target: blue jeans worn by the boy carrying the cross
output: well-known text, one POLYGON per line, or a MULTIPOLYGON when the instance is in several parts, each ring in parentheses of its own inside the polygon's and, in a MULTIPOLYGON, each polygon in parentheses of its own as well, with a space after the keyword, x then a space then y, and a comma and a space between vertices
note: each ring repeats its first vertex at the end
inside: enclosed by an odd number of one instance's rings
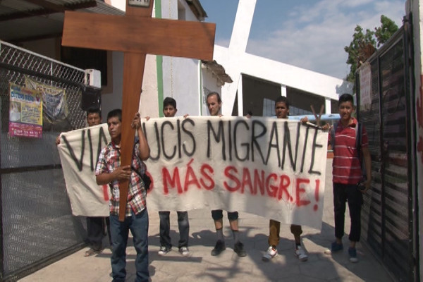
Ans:
POLYGON ((126 216, 125 221, 110 215, 110 231, 113 252, 111 254, 111 271, 114 282, 125 282, 126 276, 126 245, 129 231, 133 235, 134 247, 137 251, 135 269, 137 277, 135 282, 149 281, 148 271, 148 213, 145 208, 139 214, 132 212, 126 216))

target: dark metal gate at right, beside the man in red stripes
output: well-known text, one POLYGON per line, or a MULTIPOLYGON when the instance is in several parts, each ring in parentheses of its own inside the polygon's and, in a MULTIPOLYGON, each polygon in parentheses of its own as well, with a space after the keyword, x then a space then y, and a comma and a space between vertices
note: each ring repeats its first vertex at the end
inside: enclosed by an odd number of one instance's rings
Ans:
POLYGON ((358 119, 367 128, 372 155, 372 191, 364 199, 362 239, 398 281, 418 279, 418 249, 413 244, 418 229, 413 213, 417 188, 412 180, 415 118, 408 27, 405 23, 368 60, 369 109, 360 109, 360 75, 356 87, 358 119))

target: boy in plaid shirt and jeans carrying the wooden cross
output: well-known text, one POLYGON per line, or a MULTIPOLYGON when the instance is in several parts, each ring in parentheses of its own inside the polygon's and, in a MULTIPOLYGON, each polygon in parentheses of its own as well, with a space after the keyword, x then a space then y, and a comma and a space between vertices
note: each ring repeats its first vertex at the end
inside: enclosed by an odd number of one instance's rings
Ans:
POLYGON ((137 130, 139 140, 135 143, 130 166, 121 166, 121 130, 122 111, 115 109, 107 115, 107 125, 111 142, 102 149, 96 168, 98 185, 109 184, 111 189, 110 229, 113 252, 111 270, 114 282, 124 282, 126 276, 126 245, 128 233, 133 235, 137 251, 135 281, 149 281, 148 271, 148 213, 147 190, 140 176, 145 173, 145 164, 149 158, 149 146, 142 132, 140 114, 135 114, 131 128, 137 130), (125 220, 119 221, 119 182, 129 180, 128 198, 126 199, 125 220))

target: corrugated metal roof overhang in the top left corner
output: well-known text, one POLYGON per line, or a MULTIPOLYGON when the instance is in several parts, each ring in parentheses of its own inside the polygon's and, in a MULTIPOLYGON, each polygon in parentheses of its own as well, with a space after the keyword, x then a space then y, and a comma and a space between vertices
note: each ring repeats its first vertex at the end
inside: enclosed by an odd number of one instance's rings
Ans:
POLYGON ((101 0, 0 0, 0 39, 16 43, 60 37, 64 11, 125 14, 101 0))

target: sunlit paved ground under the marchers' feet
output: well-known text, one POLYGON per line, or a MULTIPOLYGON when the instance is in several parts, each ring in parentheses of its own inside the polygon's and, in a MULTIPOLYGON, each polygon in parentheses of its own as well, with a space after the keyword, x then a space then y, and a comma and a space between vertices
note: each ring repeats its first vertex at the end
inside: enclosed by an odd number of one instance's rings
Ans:
MULTIPOLYGON (((357 264, 348 261, 347 250, 333 256, 324 255, 325 248, 333 240, 330 159, 326 171, 324 222, 321 231, 303 227, 303 245, 309 253, 307 262, 300 262, 295 257, 293 235, 290 234, 289 226, 281 226, 278 257, 271 262, 262 262, 262 255, 268 247, 269 221, 245 213, 240 213, 240 239, 247 250, 247 257, 239 258, 233 252, 233 240, 226 217, 224 221, 226 251, 219 257, 212 257, 210 252, 214 247, 216 235, 213 230, 212 217, 206 210, 189 212, 191 257, 182 257, 177 249, 169 252, 165 257, 161 257, 157 254, 159 250, 159 216, 157 212, 150 212, 149 271, 152 281, 393 281, 384 267, 362 244, 357 245, 360 259, 357 264)), ((177 245, 176 213, 171 213, 171 228, 173 244, 177 245)), ((349 231, 349 228, 348 223, 345 230, 349 231)), ((348 245, 346 237, 344 237, 344 245, 348 245)), ((106 249, 97 256, 83 257, 85 250, 75 252, 19 281, 111 281, 109 276, 111 273, 110 250, 106 249)), ((134 281, 135 250, 132 245, 128 247, 127 253, 127 281, 134 281)))

